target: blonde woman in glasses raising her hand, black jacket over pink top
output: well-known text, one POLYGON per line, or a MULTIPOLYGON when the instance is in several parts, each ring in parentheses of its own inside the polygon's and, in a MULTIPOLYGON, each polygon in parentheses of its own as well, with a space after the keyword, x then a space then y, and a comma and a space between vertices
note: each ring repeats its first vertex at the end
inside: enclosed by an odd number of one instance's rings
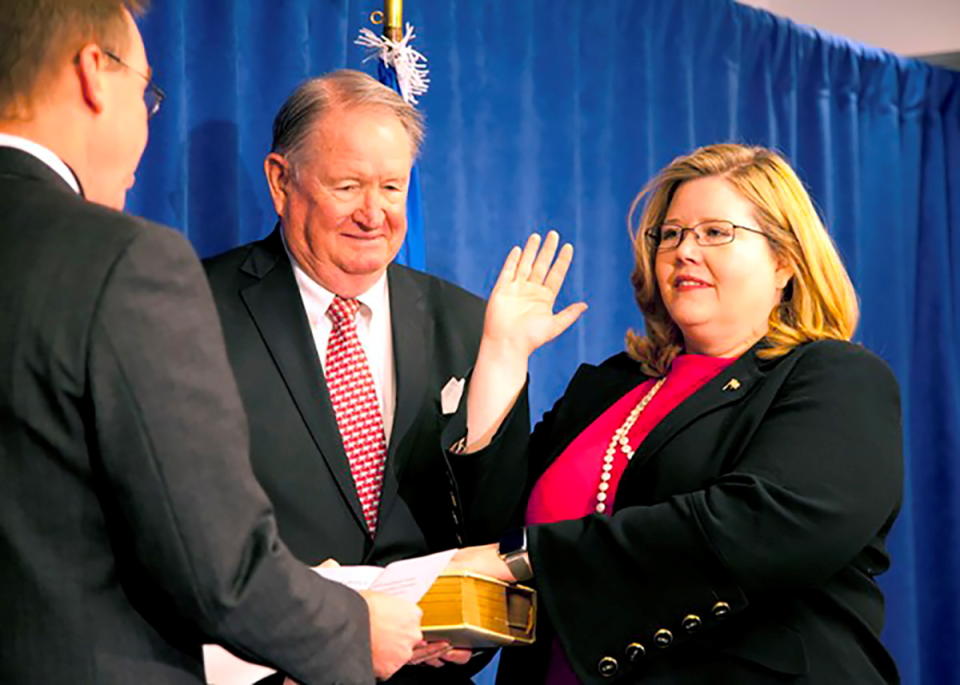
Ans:
MULTIPOLYGON (((898 389, 849 342, 856 295, 803 185, 770 150, 713 145, 638 212, 646 334, 581 366, 487 487, 520 533, 456 561, 539 589, 538 643, 507 650, 500 682, 897 682, 875 577, 901 496, 898 389)), ((475 435, 552 335, 531 331, 578 313, 550 311, 569 249, 538 270, 555 245, 537 247, 491 297, 475 435)))

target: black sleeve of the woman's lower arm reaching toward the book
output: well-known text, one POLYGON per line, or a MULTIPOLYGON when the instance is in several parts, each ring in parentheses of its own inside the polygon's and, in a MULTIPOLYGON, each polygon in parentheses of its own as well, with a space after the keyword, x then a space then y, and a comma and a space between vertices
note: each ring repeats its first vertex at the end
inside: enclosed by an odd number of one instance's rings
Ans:
MULTIPOLYGON (((548 415, 534 432, 534 460, 552 449, 553 428, 548 415)), ((898 506, 900 446, 889 369, 854 345, 814 344, 708 487, 531 527, 541 600, 578 673, 596 678, 596 655, 638 639, 650 658, 650 638, 687 613, 709 633, 721 625, 711 616, 718 600, 736 614, 751 598, 838 573, 898 506)), ((677 628, 672 638, 672 649, 689 639, 677 628)))

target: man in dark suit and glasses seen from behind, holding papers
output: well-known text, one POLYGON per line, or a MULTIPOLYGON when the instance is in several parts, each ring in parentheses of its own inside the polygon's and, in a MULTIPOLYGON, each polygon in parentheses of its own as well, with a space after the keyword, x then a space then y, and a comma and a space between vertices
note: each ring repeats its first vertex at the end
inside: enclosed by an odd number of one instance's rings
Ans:
POLYGON ((371 683, 419 610, 279 540, 199 262, 116 211, 162 98, 141 5, 23 0, 0 23, 0 682, 196 684, 214 640, 371 683))

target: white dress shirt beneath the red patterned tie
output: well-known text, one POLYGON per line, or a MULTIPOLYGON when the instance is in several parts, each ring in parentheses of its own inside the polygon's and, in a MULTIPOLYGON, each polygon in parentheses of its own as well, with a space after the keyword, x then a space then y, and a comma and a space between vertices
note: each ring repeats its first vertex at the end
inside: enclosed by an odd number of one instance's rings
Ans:
MULTIPOLYGON (((281 230, 281 235, 283 231, 281 230)), ((286 240, 283 243, 287 247, 286 240)), ((333 302, 334 293, 310 278, 290 250, 287 250, 290 263, 293 265, 293 275, 297 279, 297 289, 303 308, 307 312, 307 321, 310 332, 313 334, 313 344, 320 357, 320 365, 324 375, 327 372, 327 343, 333 331, 333 322, 327 316, 327 309, 333 302)), ((393 359, 393 331, 390 327, 390 287, 387 283, 387 272, 377 280, 365 293, 359 295, 360 311, 357 313, 357 337, 367 355, 370 364, 370 373, 373 375, 373 384, 377 389, 377 401, 380 404, 380 415, 383 417, 383 430, 387 444, 390 444, 390 434, 393 429, 393 414, 397 406, 396 374, 393 359)))

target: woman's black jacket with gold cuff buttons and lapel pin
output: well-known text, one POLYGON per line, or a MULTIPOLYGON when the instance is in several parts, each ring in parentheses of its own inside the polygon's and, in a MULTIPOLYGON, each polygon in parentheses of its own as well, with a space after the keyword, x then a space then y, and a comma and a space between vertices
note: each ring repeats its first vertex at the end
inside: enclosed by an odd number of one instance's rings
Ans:
MULTIPOLYGON (((553 635, 585 683, 898 680, 874 581, 902 486, 896 381, 850 343, 754 351, 654 428, 612 517, 529 529, 544 630, 500 682, 542 682, 553 635)), ((582 366, 530 438, 527 492, 644 380, 625 354, 582 366)))

